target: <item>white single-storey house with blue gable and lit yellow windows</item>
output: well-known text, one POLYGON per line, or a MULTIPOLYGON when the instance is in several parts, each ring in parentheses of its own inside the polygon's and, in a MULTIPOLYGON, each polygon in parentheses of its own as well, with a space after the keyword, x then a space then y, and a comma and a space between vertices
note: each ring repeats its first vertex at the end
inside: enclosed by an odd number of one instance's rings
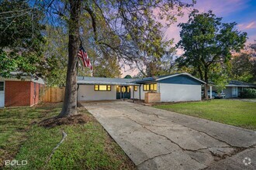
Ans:
POLYGON ((78 100, 144 100, 145 93, 161 94, 161 102, 201 100, 202 80, 189 73, 175 73, 143 79, 78 76, 78 100))

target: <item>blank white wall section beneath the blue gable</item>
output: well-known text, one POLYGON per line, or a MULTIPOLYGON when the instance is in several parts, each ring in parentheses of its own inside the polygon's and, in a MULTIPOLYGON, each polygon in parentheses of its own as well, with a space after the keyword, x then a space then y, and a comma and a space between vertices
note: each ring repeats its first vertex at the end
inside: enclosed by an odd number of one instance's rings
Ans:
POLYGON ((201 85, 160 83, 161 101, 201 100, 201 85))

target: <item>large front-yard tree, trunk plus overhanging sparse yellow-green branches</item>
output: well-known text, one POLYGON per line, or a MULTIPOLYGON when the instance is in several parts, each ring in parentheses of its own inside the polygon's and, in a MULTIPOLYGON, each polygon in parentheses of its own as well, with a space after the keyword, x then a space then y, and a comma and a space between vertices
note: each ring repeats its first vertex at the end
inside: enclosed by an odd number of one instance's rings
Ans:
MULTIPOLYGON (((68 29, 68 63, 64 107, 60 116, 76 114, 76 55, 79 38, 92 35, 88 42, 97 53, 116 56, 119 61, 133 63, 144 53, 147 56, 154 51, 162 51, 159 39, 164 27, 159 19, 170 26, 176 15, 182 15, 182 7, 188 3, 175 1, 43 1, 46 15, 51 16, 50 23, 61 24, 68 29), (87 18, 87 19, 85 19, 87 18), (82 26, 82 22, 86 22, 82 26)), ((161 53, 160 53, 161 54, 161 53)))

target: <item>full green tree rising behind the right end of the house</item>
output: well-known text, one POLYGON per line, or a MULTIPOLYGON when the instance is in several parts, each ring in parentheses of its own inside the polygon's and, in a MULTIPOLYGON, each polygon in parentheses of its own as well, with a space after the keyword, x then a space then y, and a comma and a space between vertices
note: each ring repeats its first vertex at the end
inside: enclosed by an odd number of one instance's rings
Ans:
POLYGON ((181 40, 177 46, 184 50, 184 54, 177 62, 180 67, 192 66, 206 83, 223 86, 232 53, 244 48, 247 33, 235 29, 235 22, 223 23, 221 20, 212 11, 199 13, 194 10, 188 22, 180 23, 181 40))

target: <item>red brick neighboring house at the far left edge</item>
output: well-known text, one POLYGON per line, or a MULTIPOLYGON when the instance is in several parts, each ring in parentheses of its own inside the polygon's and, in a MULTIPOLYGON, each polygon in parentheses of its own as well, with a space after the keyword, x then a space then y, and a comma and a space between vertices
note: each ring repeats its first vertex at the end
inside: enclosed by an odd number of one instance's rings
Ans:
POLYGON ((11 73, 10 78, 0 77, 0 107, 33 106, 39 102, 43 80, 33 76, 21 76, 11 73))

